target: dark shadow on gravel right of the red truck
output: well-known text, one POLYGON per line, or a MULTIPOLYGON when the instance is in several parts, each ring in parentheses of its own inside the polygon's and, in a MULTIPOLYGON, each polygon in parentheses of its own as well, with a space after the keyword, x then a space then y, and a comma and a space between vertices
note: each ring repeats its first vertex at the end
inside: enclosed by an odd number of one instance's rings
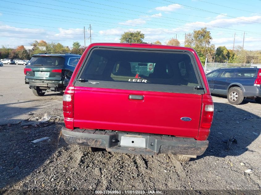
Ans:
POLYGON ((246 151, 255 152, 248 147, 260 135, 261 118, 237 107, 231 104, 214 103, 213 124, 208 137, 209 146, 198 158, 238 156, 246 151), (223 139, 228 140, 233 136, 237 144, 232 143, 228 149, 223 139))

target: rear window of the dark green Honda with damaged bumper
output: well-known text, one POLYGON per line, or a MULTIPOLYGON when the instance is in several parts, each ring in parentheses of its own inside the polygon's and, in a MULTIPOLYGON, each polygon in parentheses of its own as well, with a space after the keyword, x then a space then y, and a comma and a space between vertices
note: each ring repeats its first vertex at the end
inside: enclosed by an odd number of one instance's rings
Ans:
POLYGON ((64 60, 65 59, 63 57, 59 56, 34 56, 28 65, 55 67, 62 66, 64 64, 64 60))

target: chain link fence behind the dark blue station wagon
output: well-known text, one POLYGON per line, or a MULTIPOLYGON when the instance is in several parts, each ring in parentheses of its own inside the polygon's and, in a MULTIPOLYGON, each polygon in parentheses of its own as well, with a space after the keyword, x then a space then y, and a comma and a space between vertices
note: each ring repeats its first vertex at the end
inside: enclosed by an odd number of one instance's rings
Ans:
POLYGON ((218 68, 226 68, 226 67, 250 67, 256 66, 261 68, 261 64, 236 64, 236 63, 206 63, 206 73, 216 70, 218 68))

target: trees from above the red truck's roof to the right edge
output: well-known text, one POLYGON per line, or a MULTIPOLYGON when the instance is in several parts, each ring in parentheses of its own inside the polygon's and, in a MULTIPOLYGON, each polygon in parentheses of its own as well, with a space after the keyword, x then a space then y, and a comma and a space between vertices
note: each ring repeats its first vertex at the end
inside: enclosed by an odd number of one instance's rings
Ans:
MULTIPOLYGON (((145 35, 141 31, 124 32, 121 35, 120 43, 145 43, 143 39, 145 35)), ((191 47, 197 52, 202 64, 208 55, 208 62, 217 63, 261 63, 261 51, 247 51, 241 46, 236 46, 235 50, 227 49, 225 46, 219 46, 215 49, 215 45, 211 43, 212 37, 207 28, 194 30, 185 37, 185 47, 191 47)), ((157 40, 149 44, 162 45, 157 40)), ((171 38, 165 42, 165 45, 180 46, 178 39, 171 38)))

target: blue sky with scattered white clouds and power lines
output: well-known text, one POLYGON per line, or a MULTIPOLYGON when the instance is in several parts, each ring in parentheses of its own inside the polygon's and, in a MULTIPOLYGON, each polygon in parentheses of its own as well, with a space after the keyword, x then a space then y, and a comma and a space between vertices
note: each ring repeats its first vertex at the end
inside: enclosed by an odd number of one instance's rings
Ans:
POLYGON ((207 27, 212 43, 261 49, 260 0, 0 0, 0 46, 28 46, 34 40, 120 42, 128 30, 141 30, 145 42, 173 38, 184 45, 185 33, 207 27), (215 5, 216 4, 216 5, 215 5))

